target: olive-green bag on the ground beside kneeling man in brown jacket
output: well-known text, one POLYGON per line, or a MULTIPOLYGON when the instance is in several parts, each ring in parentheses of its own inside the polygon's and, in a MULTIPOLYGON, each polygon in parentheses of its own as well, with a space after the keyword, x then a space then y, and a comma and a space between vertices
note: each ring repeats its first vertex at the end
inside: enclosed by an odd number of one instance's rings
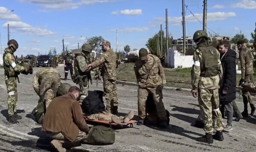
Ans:
POLYGON ((87 135, 87 143, 92 145, 109 145, 115 142, 115 131, 106 126, 93 126, 87 135))

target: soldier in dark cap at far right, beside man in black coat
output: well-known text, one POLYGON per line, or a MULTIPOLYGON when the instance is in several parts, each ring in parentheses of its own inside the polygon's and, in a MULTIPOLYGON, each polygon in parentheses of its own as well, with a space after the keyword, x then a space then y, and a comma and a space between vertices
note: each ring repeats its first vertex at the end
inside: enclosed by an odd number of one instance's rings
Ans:
MULTIPOLYGON (((244 46, 243 40, 239 40, 237 42, 237 47, 239 49, 239 58, 242 72, 241 79, 239 81, 239 86, 241 86, 241 84, 246 81, 253 81, 253 55, 250 52, 250 50, 248 50, 247 47, 244 46)), ((248 102, 250 103, 251 107, 250 115, 253 115, 255 112, 255 106, 253 103, 253 99, 250 95, 250 92, 247 92, 246 90, 242 89, 242 97, 244 102, 244 111, 242 112, 243 117, 248 117, 248 102)))

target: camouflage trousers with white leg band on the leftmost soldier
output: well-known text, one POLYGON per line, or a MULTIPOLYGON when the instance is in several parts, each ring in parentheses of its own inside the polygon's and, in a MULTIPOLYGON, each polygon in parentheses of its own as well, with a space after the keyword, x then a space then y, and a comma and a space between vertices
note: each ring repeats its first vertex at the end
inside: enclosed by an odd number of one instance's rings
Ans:
POLYGON ((6 89, 8 93, 7 105, 8 105, 8 114, 9 116, 14 115, 17 110, 17 83, 16 77, 7 77, 5 76, 6 89))

